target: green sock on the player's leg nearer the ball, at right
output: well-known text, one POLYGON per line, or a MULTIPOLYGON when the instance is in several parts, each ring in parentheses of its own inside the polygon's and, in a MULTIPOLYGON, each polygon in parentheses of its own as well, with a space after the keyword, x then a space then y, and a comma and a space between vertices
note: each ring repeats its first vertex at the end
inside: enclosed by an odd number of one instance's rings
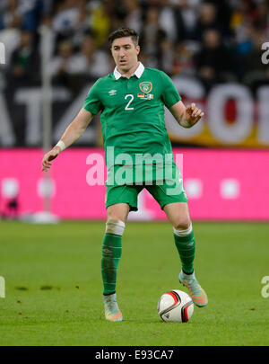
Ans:
POLYGON ((182 270, 185 273, 194 271, 195 261, 195 235, 193 230, 185 236, 176 235, 174 233, 175 244, 178 249, 182 270))

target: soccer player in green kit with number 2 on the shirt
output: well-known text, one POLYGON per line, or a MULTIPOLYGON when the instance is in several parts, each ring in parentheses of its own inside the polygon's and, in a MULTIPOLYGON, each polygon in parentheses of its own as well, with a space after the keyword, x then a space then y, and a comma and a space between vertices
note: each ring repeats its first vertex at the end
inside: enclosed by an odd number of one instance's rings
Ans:
POLYGON ((187 207, 187 195, 173 158, 164 122, 164 106, 178 124, 191 128, 204 116, 195 103, 185 106, 168 75, 138 61, 138 34, 120 28, 108 38, 116 67, 92 85, 84 105, 65 133, 42 160, 48 171, 51 161, 80 138, 93 115, 100 111, 108 179, 106 182, 106 231, 102 242, 101 273, 105 317, 122 321, 117 306, 117 267, 122 235, 129 211, 137 210, 137 196, 146 188, 173 226, 181 271, 178 280, 187 287, 196 306, 208 303, 194 271, 195 236, 187 207), (123 155, 126 163, 123 163, 123 155), (141 158, 143 156, 143 158, 141 158), (152 168, 151 173, 148 167, 152 168), (125 166, 125 170, 121 170, 125 166), (139 170, 140 173, 136 173, 139 170), (138 168, 138 169, 137 169, 138 168), (160 178, 160 171, 172 177, 160 178), (135 173, 134 173, 135 172, 135 173))

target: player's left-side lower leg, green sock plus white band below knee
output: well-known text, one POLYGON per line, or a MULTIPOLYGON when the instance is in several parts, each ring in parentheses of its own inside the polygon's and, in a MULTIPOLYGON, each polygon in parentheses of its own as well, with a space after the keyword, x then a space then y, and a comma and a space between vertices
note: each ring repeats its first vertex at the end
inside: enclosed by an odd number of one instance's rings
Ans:
POLYGON ((103 294, 116 292, 117 267, 122 252, 122 235, 125 223, 116 219, 108 219, 106 234, 102 242, 101 272, 103 280, 103 294))

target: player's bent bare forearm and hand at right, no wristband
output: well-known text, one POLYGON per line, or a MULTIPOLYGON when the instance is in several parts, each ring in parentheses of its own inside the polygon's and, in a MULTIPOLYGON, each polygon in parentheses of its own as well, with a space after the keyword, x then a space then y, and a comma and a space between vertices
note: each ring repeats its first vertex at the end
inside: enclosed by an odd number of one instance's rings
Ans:
POLYGON ((169 111, 183 128, 193 127, 204 116, 204 111, 197 108, 194 102, 185 106, 179 101, 171 106, 169 111))

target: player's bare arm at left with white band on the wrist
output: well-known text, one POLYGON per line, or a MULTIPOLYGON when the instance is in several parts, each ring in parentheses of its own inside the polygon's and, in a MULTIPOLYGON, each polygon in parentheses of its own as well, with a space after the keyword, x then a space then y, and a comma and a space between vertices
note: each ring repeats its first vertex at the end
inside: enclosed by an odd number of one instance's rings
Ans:
POLYGON ((54 146, 46 155, 44 155, 42 160, 42 171, 47 172, 51 166, 51 161, 56 158, 56 156, 62 152, 68 146, 71 146, 78 138, 80 138, 85 131, 85 129, 90 124, 93 118, 93 114, 90 111, 81 109, 74 120, 65 129, 62 138, 58 141, 56 146, 54 146))

